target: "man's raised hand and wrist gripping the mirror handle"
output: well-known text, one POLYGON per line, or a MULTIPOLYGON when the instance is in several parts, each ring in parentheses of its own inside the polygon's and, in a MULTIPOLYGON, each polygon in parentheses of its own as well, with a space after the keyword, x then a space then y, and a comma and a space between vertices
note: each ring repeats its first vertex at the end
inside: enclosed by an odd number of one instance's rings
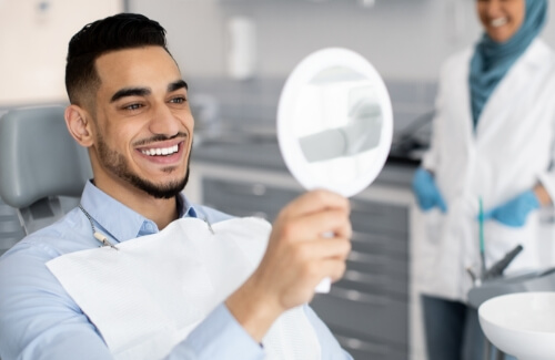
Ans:
POLYGON ((322 279, 343 276, 349 215, 349 200, 326 191, 309 192, 279 214, 259 268, 225 301, 256 341, 285 310, 309 302, 322 279))

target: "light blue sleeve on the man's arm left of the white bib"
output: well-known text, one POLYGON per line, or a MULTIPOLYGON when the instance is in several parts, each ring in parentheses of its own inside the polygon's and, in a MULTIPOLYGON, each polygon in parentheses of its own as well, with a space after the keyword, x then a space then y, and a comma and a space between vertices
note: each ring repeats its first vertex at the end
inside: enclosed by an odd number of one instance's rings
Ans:
POLYGON ((46 267, 47 248, 18 244, 0 259, 0 358, 111 359, 94 326, 46 267))

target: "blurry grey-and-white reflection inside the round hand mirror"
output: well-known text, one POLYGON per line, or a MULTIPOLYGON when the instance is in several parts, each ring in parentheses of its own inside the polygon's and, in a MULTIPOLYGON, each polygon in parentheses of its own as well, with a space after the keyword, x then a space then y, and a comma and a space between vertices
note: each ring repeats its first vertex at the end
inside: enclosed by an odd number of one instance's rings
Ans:
POLYGON ((329 167, 342 177, 357 176, 370 161, 370 151, 377 146, 382 128, 381 110, 369 79, 346 68, 326 69, 300 90, 297 103, 303 105, 293 116, 299 115, 301 150, 314 176, 333 176, 322 173, 329 167), (313 164, 317 162, 339 165, 313 164))

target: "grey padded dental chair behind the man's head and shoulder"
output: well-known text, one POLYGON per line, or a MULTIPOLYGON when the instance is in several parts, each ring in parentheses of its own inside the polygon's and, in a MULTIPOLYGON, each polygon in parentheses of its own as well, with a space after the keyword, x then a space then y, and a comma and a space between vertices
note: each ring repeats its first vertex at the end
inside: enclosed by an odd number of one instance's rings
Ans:
POLYGON ((63 112, 62 106, 27 107, 0 117, 0 198, 11 207, 10 214, 0 204, 0 254, 77 206, 92 177, 87 150, 69 134, 63 112), (2 220, 10 226, 2 227, 2 220))

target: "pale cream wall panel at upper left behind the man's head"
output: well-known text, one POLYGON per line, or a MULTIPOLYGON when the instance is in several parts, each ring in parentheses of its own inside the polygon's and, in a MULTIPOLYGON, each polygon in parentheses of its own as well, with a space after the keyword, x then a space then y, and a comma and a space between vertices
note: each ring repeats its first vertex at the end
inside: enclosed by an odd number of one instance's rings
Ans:
POLYGON ((121 0, 0 0, 0 106, 65 102, 68 42, 121 0))

